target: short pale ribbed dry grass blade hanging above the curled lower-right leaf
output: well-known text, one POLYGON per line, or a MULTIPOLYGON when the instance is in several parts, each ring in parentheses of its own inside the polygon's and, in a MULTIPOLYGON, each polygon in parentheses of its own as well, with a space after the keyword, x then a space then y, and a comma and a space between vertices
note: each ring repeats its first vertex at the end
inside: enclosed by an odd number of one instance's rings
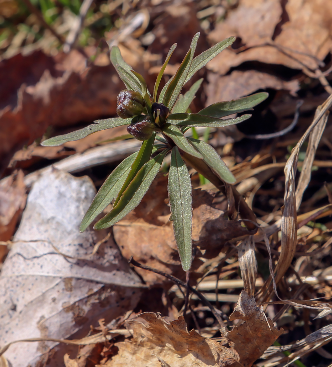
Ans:
POLYGON ((244 290, 249 296, 252 296, 255 293, 255 283, 257 278, 255 242, 252 236, 248 236, 239 244, 238 255, 244 290))

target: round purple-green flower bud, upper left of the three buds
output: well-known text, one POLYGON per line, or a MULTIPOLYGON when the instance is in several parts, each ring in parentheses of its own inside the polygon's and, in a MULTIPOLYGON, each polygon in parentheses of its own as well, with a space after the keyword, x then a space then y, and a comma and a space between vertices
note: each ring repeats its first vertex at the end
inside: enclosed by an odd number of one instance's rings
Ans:
POLYGON ((123 90, 118 94, 116 113, 122 118, 140 115, 144 108, 143 97, 135 91, 123 90))

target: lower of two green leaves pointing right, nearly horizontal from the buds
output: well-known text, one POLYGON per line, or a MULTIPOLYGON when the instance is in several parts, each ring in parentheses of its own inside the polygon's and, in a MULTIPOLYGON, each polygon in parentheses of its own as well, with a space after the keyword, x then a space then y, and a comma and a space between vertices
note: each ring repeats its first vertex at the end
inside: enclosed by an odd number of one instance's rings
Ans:
POLYGON ((174 113, 169 115, 167 122, 178 126, 194 126, 194 127, 223 127, 238 124, 248 120, 251 115, 242 115, 235 119, 218 119, 216 117, 203 116, 198 113, 174 113))

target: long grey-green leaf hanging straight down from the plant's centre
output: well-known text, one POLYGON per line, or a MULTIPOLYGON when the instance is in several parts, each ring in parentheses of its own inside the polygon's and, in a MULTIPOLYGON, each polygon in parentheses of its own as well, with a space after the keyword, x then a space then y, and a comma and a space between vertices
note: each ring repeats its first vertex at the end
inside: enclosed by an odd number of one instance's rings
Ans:
POLYGON ((172 149, 168 174, 168 196, 172 212, 174 237, 183 270, 191 266, 192 197, 188 168, 177 147, 172 149))

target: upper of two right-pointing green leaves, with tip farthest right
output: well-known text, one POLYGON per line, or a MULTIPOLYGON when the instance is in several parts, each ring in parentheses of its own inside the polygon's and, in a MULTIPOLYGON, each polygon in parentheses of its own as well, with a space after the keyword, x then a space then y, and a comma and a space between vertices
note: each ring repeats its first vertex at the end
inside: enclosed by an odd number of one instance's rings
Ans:
POLYGON ((263 102, 268 97, 267 92, 255 93, 239 99, 233 99, 232 101, 217 102, 199 111, 199 115, 212 116, 212 117, 224 117, 232 115, 233 113, 239 113, 248 111, 254 106, 263 102))

